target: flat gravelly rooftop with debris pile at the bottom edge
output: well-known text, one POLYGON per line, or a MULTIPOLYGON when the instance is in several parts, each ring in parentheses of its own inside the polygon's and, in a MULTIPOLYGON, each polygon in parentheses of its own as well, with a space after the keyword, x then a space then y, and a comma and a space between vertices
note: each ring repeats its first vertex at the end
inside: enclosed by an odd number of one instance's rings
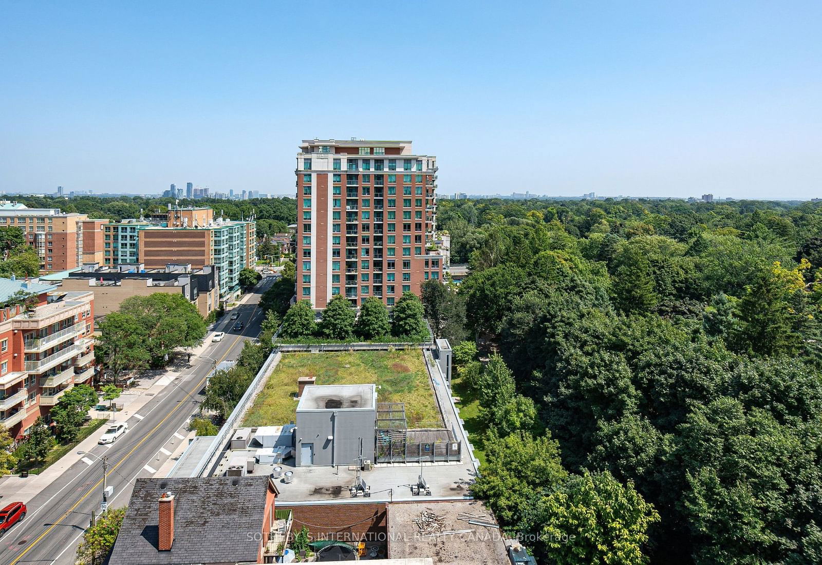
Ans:
POLYGON ((460 519, 473 515, 478 521, 496 523, 492 513, 478 500, 423 501, 390 504, 388 507, 388 553, 391 558, 431 557, 441 565, 510 563, 502 532, 498 528, 469 524, 460 519), (420 513, 436 517, 436 525, 424 532, 417 522, 420 513), (462 534, 436 535, 443 531, 470 530, 462 534))

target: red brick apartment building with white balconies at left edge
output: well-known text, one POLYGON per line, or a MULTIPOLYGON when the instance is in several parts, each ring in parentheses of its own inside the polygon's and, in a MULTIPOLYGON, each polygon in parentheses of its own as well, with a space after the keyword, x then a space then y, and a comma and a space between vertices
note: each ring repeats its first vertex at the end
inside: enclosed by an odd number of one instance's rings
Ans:
POLYGON ((25 435, 95 372, 94 294, 0 278, 0 424, 25 435), (19 296, 36 296, 36 305, 19 296))

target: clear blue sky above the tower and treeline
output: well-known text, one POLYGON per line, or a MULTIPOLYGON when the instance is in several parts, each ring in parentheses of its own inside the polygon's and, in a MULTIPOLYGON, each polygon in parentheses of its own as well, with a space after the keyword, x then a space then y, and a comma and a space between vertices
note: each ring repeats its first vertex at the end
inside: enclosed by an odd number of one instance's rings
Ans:
POLYGON ((822 2, 0 0, 0 190, 293 192, 304 138, 444 193, 822 196, 822 2))

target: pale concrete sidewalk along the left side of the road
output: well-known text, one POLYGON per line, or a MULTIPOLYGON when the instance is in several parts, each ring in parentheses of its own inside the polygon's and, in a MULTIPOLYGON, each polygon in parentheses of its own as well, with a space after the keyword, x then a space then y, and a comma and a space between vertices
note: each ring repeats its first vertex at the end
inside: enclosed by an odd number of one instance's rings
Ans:
MULTIPOLYGON (((243 305, 247 300, 254 296, 252 292, 247 292, 238 301, 238 305, 243 305)), ((235 306, 236 308, 236 306, 235 306)), ((215 324, 208 329, 201 346, 191 350, 192 362, 178 361, 164 370, 142 370, 140 371, 140 378, 137 379, 136 386, 124 391, 120 397, 114 401, 116 404, 122 406, 122 410, 115 412, 114 420, 126 421, 145 407, 145 405, 154 397, 157 396, 165 387, 174 382, 174 379, 180 377, 187 370, 191 370, 192 365, 196 363, 197 356, 211 346, 211 336, 216 331, 224 331, 229 328, 233 321, 231 320, 230 311, 226 310, 226 315, 219 319, 215 324)), ((89 416, 92 418, 105 418, 111 420, 111 411, 97 411, 92 408, 89 411, 89 416)), ((80 461, 84 456, 78 455, 78 451, 90 451, 97 445, 97 440, 100 434, 103 433, 102 428, 99 433, 91 434, 88 438, 78 443, 71 452, 61 457, 58 462, 55 462, 48 469, 39 475, 29 475, 25 479, 21 479, 19 475, 7 475, 0 479, 0 500, 8 502, 22 502, 28 503, 32 498, 40 494, 48 485, 51 485, 55 480, 67 471, 69 467, 80 461)), ((187 443, 187 442, 185 442, 187 443)), ((176 454, 179 457, 179 454, 176 454)), ((96 461, 95 461, 96 463, 96 461)))

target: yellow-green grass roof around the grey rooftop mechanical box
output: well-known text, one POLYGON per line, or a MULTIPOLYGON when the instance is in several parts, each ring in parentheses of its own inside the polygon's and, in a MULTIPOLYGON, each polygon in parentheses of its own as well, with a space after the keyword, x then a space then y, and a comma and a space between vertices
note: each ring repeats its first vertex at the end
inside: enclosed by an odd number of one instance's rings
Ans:
POLYGON ((440 420, 434 393, 418 349, 353 353, 284 353, 242 425, 283 425, 294 420, 298 377, 316 384, 377 384, 378 402, 404 402, 413 426, 440 420))

